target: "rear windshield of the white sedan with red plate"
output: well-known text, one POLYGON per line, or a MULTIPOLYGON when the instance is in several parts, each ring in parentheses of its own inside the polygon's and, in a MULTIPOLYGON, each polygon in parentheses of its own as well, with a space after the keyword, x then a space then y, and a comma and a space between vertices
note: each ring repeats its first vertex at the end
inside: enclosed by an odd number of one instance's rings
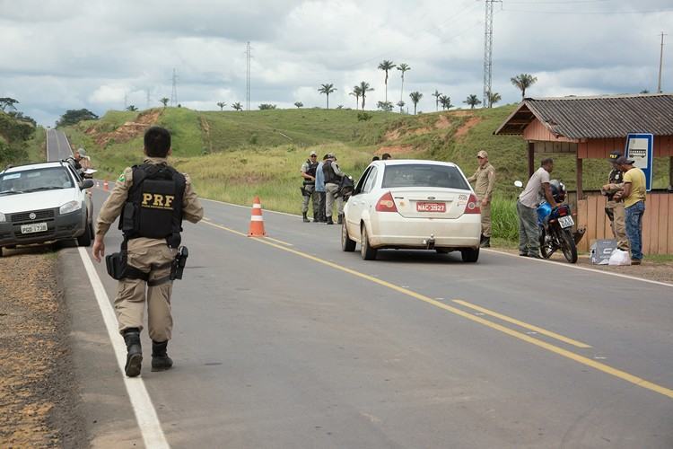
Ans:
POLYGON ((382 188, 439 187, 468 190, 468 183, 456 167, 428 163, 388 165, 383 173, 382 188))

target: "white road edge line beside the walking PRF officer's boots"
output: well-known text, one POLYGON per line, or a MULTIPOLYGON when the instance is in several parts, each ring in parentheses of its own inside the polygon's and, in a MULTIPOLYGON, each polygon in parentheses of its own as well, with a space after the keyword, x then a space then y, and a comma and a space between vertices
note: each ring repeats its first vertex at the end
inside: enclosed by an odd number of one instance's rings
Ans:
MULTIPOLYGON (((119 336, 117 318, 112 310, 112 305, 109 304, 109 298, 101 283, 101 277, 98 276, 96 269, 94 269, 89 254, 83 247, 79 247, 77 250, 82 258, 86 274, 92 283, 93 294, 96 296, 96 301, 101 309, 105 328, 108 330, 109 341, 112 343, 112 348, 117 357, 119 371, 124 373, 124 365, 127 362, 127 348, 121 336, 119 336)), ((144 386, 143 378, 131 378, 124 375, 124 385, 127 387, 128 398, 131 401, 131 407, 135 413, 138 427, 140 427, 145 447, 153 449, 170 448, 170 445, 166 441, 166 436, 163 435, 162 424, 159 422, 152 399, 150 399, 150 395, 144 386)))

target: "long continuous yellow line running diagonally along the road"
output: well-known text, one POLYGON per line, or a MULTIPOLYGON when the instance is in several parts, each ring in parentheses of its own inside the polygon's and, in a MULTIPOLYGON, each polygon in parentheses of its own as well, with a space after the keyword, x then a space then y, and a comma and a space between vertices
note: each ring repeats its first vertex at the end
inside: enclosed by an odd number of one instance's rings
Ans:
MULTIPOLYGON (((247 234, 245 234, 245 233, 240 233, 238 231, 234 231, 234 230, 232 230, 228 227, 224 227, 222 225, 216 225, 214 223, 209 223, 209 222, 206 222, 205 224, 223 229, 224 231, 228 231, 230 233, 235 233, 237 235, 242 235, 244 237, 247 237, 247 234)), ((658 393, 660 393, 664 396, 669 397, 670 399, 673 399, 673 390, 671 390, 669 388, 658 385, 657 383, 651 383, 651 382, 646 381, 645 379, 642 379, 641 377, 638 377, 634 374, 626 373, 625 371, 613 368, 610 365, 606 365, 606 364, 597 362, 596 360, 592 360, 588 357, 580 356, 580 355, 575 354, 572 351, 569 351, 567 349, 559 348, 557 346, 554 346, 552 344, 547 343, 546 341, 543 341, 543 340, 540 340, 540 339, 534 339, 533 337, 530 337, 529 335, 521 333, 517 330, 512 330, 512 329, 507 328, 507 327, 505 327, 501 324, 497 324, 497 323, 494 323, 492 321, 485 320, 484 318, 473 315, 472 313, 462 311, 462 310, 460 310, 456 307, 452 307, 452 306, 447 305, 447 304, 442 304, 439 301, 436 301, 431 297, 421 295, 421 294, 416 293, 412 290, 409 290, 408 288, 404 288, 404 287, 401 287, 401 286, 396 286, 395 284, 391 284, 387 281, 377 279, 376 277, 371 277, 371 276, 365 275, 363 273, 359 273, 359 272, 355 271, 354 269, 347 269, 345 267, 342 267, 341 265, 337 265, 334 262, 330 262, 328 260, 322 260, 322 259, 319 259, 315 256, 311 256, 310 254, 306 254, 305 252, 293 250, 292 248, 287 248, 287 247, 284 247, 284 246, 281 246, 281 245, 278 245, 278 244, 275 244, 275 243, 272 243, 272 242, 268 242, 267 240, 255 239, 255 241, 260 242, 260 243, 264 243, 264 244, 269 245, 269 246, 273 246, 274 248, 277 248, 277 249, 282 250, 282 251, 291 252, 291 253, 293 253, 297 256, 300 256, 304 259, 313 260, 315 262, 326 265, 330 268, 338 269, 340 271, 344 271, 345 273, 348 273, 348 274, 353 275, 355 277, 361 277, 361 278, 366 279, 366 280, 368 280, 368 281, 370 281, 374 284, 379 284, 380 286, 385 286, 385 287, 387 287, 391 290, 395 290, 398 293, 401 293, 401 294, 407 295, 407 296, 411 296, 411 297, 413 297, 415 299, 418 299, 419 301, 423 301, 424 303, 427 303, 427 304, 432 304, 435 307, 438 307, 442 310, 445 310, 445 311, 450 312, 450 313, 455 313, 456 315, 459 315, 463 318, 467 318, 470 321, 475 321, 475 322, 477 322, 479 324, 482 324, 482 325, 484 325, 488 328, 491 328, 493 330, 499 330, 499 331, 501 331, 501 332, 503 332, 503 333, 505 333, 505 334, 507 334, 511 337, 514 337, 515 339, 523 340, 527 343, 530 343, 531 345, 537 346, 538 348, 543 348, 543 349, 546 349, 550 352, 558 354, 559 356, 569 358, 569 359, 571 359, 571 360, 573 360, 573 361, 575 361, 575 362, 577 362, 581 365, 590 366, 591 368, 594 368, 594 369, 596 369, 600 372, 603 372, 605 374, 610 374, 610 375, 615 376, 619 379, 622 379, 623 381, 626 381, 628 383, 633 383, 634 385, 645 388, 647 390, 651 390, 652 392, 658 392, 658 393)))

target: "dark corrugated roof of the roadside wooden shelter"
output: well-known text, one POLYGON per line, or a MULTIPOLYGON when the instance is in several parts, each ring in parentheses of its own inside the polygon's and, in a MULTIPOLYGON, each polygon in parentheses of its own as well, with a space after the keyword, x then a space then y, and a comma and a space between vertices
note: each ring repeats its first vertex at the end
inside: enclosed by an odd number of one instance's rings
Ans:
POLYGON ((673 136, 673 94, 527 98, 495 135, 521 135, 538 119, 555 136, 571 139, 625 137, 628 133, 673 136))

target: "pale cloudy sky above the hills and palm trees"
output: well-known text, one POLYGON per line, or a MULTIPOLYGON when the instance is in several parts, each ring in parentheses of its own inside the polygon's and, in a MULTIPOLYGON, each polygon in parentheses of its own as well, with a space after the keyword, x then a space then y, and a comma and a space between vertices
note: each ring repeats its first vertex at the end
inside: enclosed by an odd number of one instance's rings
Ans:
MULTIPOLYGON (((250 108, 354 107, 348 93, 366 81, 385 96, 383 59, 406 63, 408 92, 434 110, 435 89, 453 104, 482 96, 484 0, 0 0, 0 97, 53 125, 66 110, 97 114, 160 106, 171 96, 197 110, 245 102, 250 41, 250 108), (125 103, 126 99, 126 103, 125 103)), ((504 0, 494 5, 493 91, 520 100, 511 76, 538 77, 529 96, 655 92, 660 32, 662 88, 673 91, 670 0, 504 0)), ((388 95, 400 97, 400 72, 388 95)))

